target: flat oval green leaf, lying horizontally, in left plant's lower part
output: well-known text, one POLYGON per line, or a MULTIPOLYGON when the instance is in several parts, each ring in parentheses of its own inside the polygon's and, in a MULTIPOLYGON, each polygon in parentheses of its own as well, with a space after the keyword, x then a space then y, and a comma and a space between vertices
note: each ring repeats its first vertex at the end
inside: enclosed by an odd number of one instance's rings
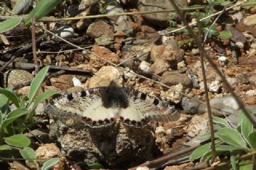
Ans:
POLYGON ((23 134, 13 135, 10 137, 4 137, 6 144, 14 147, 23 148, 30 145, 30 138, 23 134))

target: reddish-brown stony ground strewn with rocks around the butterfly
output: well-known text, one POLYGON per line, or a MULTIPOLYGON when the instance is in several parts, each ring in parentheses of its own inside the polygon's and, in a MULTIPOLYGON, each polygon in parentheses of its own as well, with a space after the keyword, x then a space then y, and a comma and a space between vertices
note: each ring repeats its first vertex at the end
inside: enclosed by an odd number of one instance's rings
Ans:
MULTIPOLYGON (((117 2, 66 1, 50 15, 55 18, 84 17, 174 8, 170 1, 164 0, 117 2)), ((196 4, 209 6, 205 1, 177 1, 177 3, 179 7, 192 8, 196 4)), ((7 1, 6 4, 8 5, 7 1)), ((234 4, 231 3, 229 6, 234 4)), ((26 14, 27 11, 23 9, 18 14, 26 14)), ((202 16, 206 15, 205 10, 200 11, 202 16)), ((213 13, 218 11, 220 9, 214 6, 213 13)), ((254 106, 256 104, 256 6, 236 6, 226 10, 217 22, 214 22, 214 19, 215 17, 210 19, 210 24, 202 25, 207 28, 214 23, 216 28, 216 34, 207 37, 204 41, 206 52, 218 65, 218 69, 222 71, 244 104, 254 106), (231 35, 225 38, 220 34, 222 31, 227 31, 231 35)), ((190 23, 194 22, 194 15, 192 13, 188 15, 187 20, 190 23)), ((182 27, 182 23, 173 13, 133 14, 68 22, 47 22, 47 24, 55 34, 84 49, 62 42, 38 27, 36 30, 38 61, 42 65, 55 65, 50 69, 50 73, 65 70, 65 73, 50 77, 42 90, 56 89, 71 93, 80 89, 107 86, 110 81, 115 81, 120 86, 137 89, 175 105, 181 117, 178 121, 159 124, 154 129, 154 143, 158 152, 154 153, 151 159, 170 152, 201 132, 209 130, 206 106, 198 102, 205 102, 199 50, 186 31, 175 31, 182 27), (40 35, 44 36, 39 38, 40 35)), ((42 22, 38 22, 38 26, 42 26, 42 22)), ((196 26, 194 32, 198 34, 196 26)), ((9 61, 12 54, 23 49, 18 56, 15 56, 16 69, 13 67, 4 69, 5 79, 2 81, 2 86, 10 87, 31 81, 34 77, 32 72, 34 68, 30 65, 33 63, 30 30, 18 26, 1 34, 0 38, 2 39, 1 65, 9 61)), ((207 93, 211 106, 215 109, 214 115, 222 117, 222 113, 226 116, 236 114, 239 109, 238 104, 224 88, 222 79, 210 67, 208 61, 205 61, 205 67, 209 89, 207 93)), ((17 86, 17 93, 26 95, 28 89, 28 86, 22 88, 17 86)), ((38 115, 44 113, 43 108, 44 104, 39 105, 38 115)), ((232 119, 236 121, 236 117, 232 119)), ((55 169, 85 168, 85 164, 62 156, 57 141, 49 139, 49 125, 40 129, 38 127, 34 129, 39 131, 36 136, 40 142, 35 140, 38 158, 58 155, 62 162, 55 169)), ((14 161, 11 166, 12 169, 26 169, 18 161, 14 161)), ((193 166, 194 163, 184 161, 164 168, 185 169, 193 166)))

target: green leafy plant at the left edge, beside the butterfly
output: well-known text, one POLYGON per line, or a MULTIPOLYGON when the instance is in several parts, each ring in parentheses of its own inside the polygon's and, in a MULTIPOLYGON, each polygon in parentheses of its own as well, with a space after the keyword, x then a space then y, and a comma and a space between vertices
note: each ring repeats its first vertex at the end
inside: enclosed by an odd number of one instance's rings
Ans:
MULTIPOLYGON (((6 151, 10 156, 19 154, 38 168, 36 155, 33 148, 30 148, 30 138, 22 134, 30 125, 33 125, 35 109, 38 104, 56 91, 49 90, 37 96, 38 89, 46 77, 49 66, 41 69, 31 82, 28 97, 18 97, 11 89, 0 88, 0 156, 3 158, 6 151)), ((15 156, 14 156, 15 157, 15 156)), ((46 160, 42 169, 48 169, 50 164, 58 163, 57 158, 46 160)))

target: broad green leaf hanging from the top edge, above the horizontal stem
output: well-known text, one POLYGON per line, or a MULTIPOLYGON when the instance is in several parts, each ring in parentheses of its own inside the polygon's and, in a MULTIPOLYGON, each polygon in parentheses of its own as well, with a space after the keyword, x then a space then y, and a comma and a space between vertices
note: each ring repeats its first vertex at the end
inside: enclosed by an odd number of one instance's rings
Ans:
POLYGON ((38 19, 46 16, 46 14, 49 14, 59 2, 60 0, 41 0, 38 2, 38 5, 35 6, 35 8, 25 19, 26 26, 31 25, 31 18, 35 17, 36 21, 38 21, 38 19))

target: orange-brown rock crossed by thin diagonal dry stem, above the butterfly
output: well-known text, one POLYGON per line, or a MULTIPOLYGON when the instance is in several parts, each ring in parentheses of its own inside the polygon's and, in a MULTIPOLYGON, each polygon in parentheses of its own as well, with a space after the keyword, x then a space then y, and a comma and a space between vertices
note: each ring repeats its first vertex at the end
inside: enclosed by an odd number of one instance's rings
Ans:
MULTIPOLYGON (((106 59, 107 61, 111 61, 114 64, 119 63, 118 55, 116 53, 111 52, 110 49, 107 49, 104 46, 94 46, 91 49, 91 51, 99 57, 106 59)), ((90 65, 95 65, 98 67, 105 65, 106 61, 102 61, 102 59, 95 56, 94 54, 90 54, 90 65)))

